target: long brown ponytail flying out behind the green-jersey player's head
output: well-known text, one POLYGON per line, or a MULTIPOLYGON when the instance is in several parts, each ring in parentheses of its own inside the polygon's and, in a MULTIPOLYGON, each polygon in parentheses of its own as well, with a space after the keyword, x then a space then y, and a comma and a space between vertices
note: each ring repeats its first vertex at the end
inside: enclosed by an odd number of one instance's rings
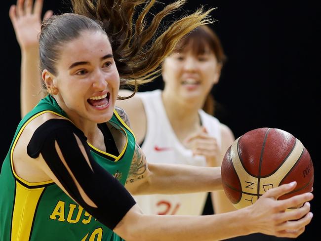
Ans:
POLYGON ((179 9, 186 0, 177 0, 165 6, 147 26, 146 15, 155 2, 156 0, 72 0, 75 13, 101 23, 113 48, 120 73, 120 86, 134 86, 134 93, 137 84, 147 83, 160 75, 161 62, 183 36, 200 25, 213 22, 209 17, 213 8, 204 11, 201 7, 194 13, 177 19, 159 34, 161 20, 179 9), (136 8, 144 3, 145 6, 137 13, 136 8), (133 23, 135 14, 138 17, 133 23))

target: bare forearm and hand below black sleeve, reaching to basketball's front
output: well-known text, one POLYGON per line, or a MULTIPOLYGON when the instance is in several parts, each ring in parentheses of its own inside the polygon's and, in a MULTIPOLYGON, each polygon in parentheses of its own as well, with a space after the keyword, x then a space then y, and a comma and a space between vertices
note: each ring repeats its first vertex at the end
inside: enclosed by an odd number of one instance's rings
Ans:
POLYGON ((114 231, 127 241, 214 241, 252 233, 296 238, 310 223, 312 214, 307 201, 311 193, 278 201, 281 195, 292 191, 294 184, 285 184, 269 190, 253 205, 229 213, 205 216, 143 215, 133 206, 114 231), (305 204, 296 210, 286 208, 305 204))

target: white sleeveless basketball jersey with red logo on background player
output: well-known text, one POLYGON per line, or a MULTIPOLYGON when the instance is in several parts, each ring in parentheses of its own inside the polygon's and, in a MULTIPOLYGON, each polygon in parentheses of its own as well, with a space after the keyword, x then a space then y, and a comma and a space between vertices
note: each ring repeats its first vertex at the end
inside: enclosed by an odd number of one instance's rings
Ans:
MULTIPOLYGON (((203 156, 193 157, 175 135, 161 100, 161 90, 136 93, 141 98, 147 117, 147 132, 142 150, 148 162, 206 166, 203 156)), ((201 123, 221 148, 220 122, 199 111, 201 123)), ((201 176, 199 178, 202 178, 201 176)), ((201 215, 207 193, 134 196, 145 214, 201 215)))

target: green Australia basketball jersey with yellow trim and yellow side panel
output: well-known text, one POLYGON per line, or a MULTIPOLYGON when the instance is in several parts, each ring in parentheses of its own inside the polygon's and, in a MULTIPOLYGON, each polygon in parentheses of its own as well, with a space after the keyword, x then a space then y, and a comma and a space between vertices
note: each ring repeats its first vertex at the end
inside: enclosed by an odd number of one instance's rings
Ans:
MULTIPOLYGON (((17 140, 30 121, 46 112, 68 118, 50 95, 42 99, 20 121, 3 162, 0 173, 0 241, 122 241, 53 181, 29 183, 14 172, 12 155, 17 140)), ((126 136, 127 142, 120 155, 110 155, 88 144, 94 160, 124 185, 134 154, 135 137, 116 111, 109 123, 126 136)))

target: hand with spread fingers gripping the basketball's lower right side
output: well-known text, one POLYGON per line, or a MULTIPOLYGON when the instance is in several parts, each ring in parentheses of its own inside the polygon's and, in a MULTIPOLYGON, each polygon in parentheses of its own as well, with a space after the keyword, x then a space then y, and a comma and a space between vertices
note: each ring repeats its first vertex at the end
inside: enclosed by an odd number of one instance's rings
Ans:
POLYGON ((256 232, 277 237, 296 238, 302 234, 313 216, 308 202, 313 199, 313 194, 305 193, 286 200, 277 200, 294 190, 295 186, 296 182, 293 182, 270 189, 253 205, 246 207, 253 218, 249 226, 254 227, 256 232), (301 207, 286 211, 294 206, 301 207))

